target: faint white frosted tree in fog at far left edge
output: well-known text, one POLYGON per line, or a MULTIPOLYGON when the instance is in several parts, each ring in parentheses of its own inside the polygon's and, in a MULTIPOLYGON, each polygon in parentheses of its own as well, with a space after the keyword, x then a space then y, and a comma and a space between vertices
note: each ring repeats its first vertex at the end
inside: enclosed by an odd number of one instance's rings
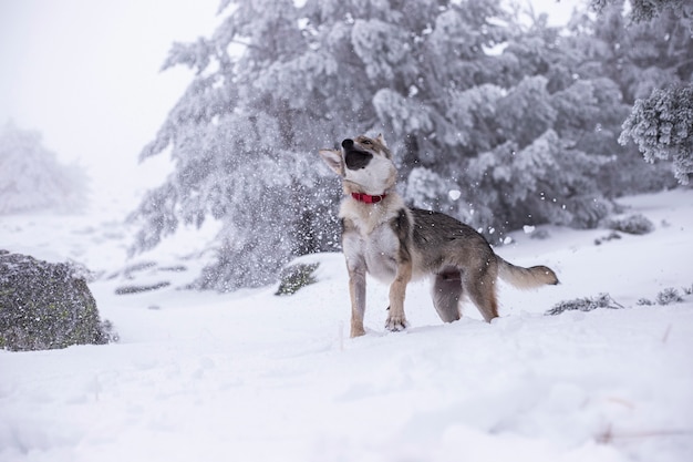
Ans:
POLYGON ((52 208, 74 211, 85 205, 86 176, 63 165, 45 148, 39 132, 8 122, 0 131, 0 214, 52 208))

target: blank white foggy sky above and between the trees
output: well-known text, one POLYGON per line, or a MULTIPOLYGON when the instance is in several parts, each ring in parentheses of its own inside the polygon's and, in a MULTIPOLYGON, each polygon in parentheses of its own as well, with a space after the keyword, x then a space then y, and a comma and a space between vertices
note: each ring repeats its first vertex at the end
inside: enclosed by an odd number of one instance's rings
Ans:
MULTIPOLYGON (((555 22, 580 1, 532 3, 555 22)), ((0 124, 37 130, 61 161, 85 166, 96 202, 135 197, 167 170, 164 158, 139 166, 137 156, 192 79, 184 68, 159 72, 161 64, 174 41, 214 31, 218 4, 0 0, 0 124)))

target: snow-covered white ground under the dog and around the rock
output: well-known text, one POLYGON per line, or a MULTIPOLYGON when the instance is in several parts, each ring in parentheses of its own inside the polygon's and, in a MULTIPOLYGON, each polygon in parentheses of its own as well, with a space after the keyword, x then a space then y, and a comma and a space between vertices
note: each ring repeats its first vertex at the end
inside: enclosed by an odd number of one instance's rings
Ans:
POLYGON ((189 238, 152 257, 187 270, 134 279, 172 286, 116 296, 132 283, 122 225, 2 217, 0 248, 101 275, 91 288, 121 341, 0 351, 0 461, 692 461, 693 296, 637 301, 693 285, 693 191, 621 204, 655 230, 597 246, 608 230, 549 228, 499 248, 562 284, 503 287, 492 325, 472 306, 442 325, 415 284, 411 328, 389 333, 386 288, 372 283, 370 330, 354 340, 341 255, 309 257, 319 283, 291 297, 198 294, 175 288, 199 265, 189 238), (600 292, 625 308, 542 316, 600 292))

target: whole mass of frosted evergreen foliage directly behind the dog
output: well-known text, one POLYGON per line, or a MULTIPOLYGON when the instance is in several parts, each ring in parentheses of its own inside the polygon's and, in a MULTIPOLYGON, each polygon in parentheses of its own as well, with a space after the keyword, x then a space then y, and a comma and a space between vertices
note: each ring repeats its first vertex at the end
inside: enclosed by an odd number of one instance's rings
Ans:
MULTIPOLYGON (((594 226, 608 198, 662 187, 659 166, 641 163, 638 182, 621 170, 638 156, 616 140, 631 78, 647 64, 652 81, 681 79, 669 61, 623 60, 619 43, 647 31, 616 10, 561 32, 495 0, 224 1, 218 29, 164 64, 196 76, 142 152, 176 168, 133 214, 133 251, 214 218, 217 258, 196 287, 270 284, 293 257, 339 248, 339 184, 317 151, 379 132, 413 205, 489 238, 594 226)), ((670 43, 673 58, 690 42, 670 43)))

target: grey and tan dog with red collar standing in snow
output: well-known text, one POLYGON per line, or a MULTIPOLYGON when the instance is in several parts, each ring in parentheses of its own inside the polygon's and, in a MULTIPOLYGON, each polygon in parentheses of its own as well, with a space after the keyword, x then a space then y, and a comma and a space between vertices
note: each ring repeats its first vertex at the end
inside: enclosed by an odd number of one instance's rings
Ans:
POLYGON ((523 268, 494 253, 484 236, 437 212, 410 208, 395 192, 397 170, 382 134, 358 136, 341 150, 320 150, 320 156, 341 178, 342 250, 349 271, 351 337, 365 333, 365 276, 390 284, 385 328, 407 327, 404 297, 411 280, 431 276, 433 305, 444 322, 461 318, 466 294, 484 319, 498 317, 496 280, 518 288, 556 285, 546 266, 523 268))

